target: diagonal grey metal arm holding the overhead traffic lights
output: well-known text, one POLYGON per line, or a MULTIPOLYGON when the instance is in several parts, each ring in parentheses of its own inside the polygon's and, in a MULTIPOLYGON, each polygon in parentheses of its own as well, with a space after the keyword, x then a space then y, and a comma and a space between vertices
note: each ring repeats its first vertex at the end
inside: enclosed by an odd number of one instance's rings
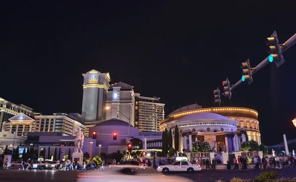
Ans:
MULTIPOLYGON (((284 52, 287 49, 289 49, 291 46, 293 46, 296 43, 296 33, 289 38, 289 40, 287 40, 282 46, 281 46, 281 51, 284 52)), ((254 75, 257 71, 259 71, 262 67, 264 67, 265 65, 267 65, 269 63, 268 57, 265 58, 263 61, 261 61, 256 67, 255 69, 252 69, 252 75, 254 75)), ((238 82, 236 82, 231 88, 230 91, 232 91, 233 89, 235 89, 237 86, 239 86, 241 83, 243 83, 242 79, 240 79, 238 82)))

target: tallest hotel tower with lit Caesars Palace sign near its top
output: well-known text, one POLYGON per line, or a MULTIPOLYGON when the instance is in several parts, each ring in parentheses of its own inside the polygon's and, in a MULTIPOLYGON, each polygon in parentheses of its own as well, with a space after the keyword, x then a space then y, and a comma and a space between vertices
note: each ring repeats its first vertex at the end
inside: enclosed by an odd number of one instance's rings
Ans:
POLYGON ((100 73, 91 70, 82 74, 83 100, 82 100, 82 121, 106 120, 107 91, 111 81, 109 73, 100 73))

